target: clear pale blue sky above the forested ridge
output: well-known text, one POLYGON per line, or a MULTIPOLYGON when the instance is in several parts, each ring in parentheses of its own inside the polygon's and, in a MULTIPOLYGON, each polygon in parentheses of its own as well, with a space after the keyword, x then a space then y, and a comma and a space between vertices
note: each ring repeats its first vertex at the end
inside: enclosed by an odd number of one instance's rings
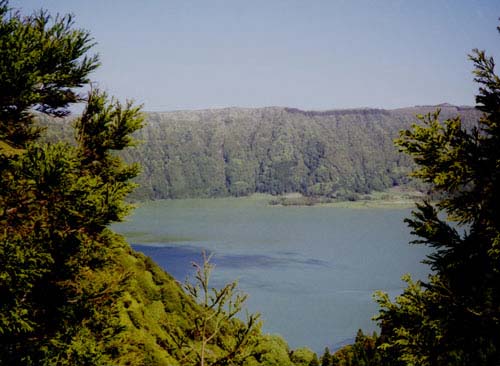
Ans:
POLYGON ((92 81, 146 111, 474 105, 467 55, 500 60, 500 0, 11 0, 72 13, 92 81))

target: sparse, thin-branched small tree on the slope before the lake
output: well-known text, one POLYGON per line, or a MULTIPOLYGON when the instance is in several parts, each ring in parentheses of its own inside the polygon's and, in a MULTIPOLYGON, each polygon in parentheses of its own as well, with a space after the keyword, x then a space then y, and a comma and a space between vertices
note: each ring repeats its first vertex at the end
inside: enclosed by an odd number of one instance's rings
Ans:
MULTIPOLYGON (((237 291, 237 282, 231 282, 222 289, 210 287, 210 277, 214 264, 210 262, 211 255, 202 253, 203 263, 193 262, 196 269, 195 282, 186 281, 184 287, 193 298, 200 300, 200 307, 194 316, 193 333, 199 339, 199 345, 189 345, 178 338, 180 351, 187 348, 184 362, 194 362, 200 366, 239 364, 254 353, 257 340, 254 336, 260 329, 259 314, 247 314, 245 323, 235 319, 247 299, 246 294, 237 291), (220 339, 219 350, 209 349, 210 343, 215 342, 221 335, 224 327, 232 324, 237 328, 232 339, 220 339), (192 357, 192 355, 195 357, 192 357)), ((178 334, 180 336, 181 333, 178 334)))

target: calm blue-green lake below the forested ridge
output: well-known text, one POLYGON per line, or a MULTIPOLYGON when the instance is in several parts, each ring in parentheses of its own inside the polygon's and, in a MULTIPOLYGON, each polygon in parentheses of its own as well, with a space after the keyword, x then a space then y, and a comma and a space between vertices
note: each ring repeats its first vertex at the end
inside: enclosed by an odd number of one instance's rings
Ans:
POLYGON ((280 207, 268 198, 164 200, 141 204, 113 228, 180 281, 202 250, 212 284, 237 279, 264 332, 322 353, 377 329, 373 292, 401 293, 404 273, 424 279, 427 250, 409 245, 408 208, 280 207))

